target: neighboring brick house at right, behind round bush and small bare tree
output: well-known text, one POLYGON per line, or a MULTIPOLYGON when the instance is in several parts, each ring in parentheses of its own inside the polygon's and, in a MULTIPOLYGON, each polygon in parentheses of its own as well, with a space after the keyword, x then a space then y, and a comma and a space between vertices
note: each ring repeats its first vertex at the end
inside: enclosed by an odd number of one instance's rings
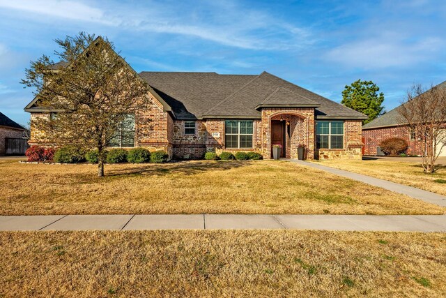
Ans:
MULTIPOLYGON (((446 82, 438 84, 437 87, 446 87, 446 82)), ((404 123, 399 112, 400 107, 401 105, 362 126, 364 155, 379 154, 377 148, 379 147, 380 142, 383 142, 383 140, 390 137, 400 137, 401 139, 406 140, 408 143, 407 154, 422 155, 420 140, 415 136, 415 131, 404 123)), ((446 124, 443 131, 446 133, 446 124)), ((441 146, 438 147, 437 154, 446 156, 446 149, 443 149, 442 151, 440 151, 440 149, 441 146)))

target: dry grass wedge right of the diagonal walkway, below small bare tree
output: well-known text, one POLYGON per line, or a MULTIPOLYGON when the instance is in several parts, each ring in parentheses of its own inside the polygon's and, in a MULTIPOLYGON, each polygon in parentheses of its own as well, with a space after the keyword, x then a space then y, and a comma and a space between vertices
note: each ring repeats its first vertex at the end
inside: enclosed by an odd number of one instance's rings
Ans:
POLYGON ((405 163, 398 161, 315 161, 321 165, 337 167, 341 170, 366 174, 371 177, 405 184, 416 188, 432 191, 440 195, 446 195, 446 166, 438 166, 437 172, 424 174, 423 167, 419 163, 405 163), (438 183, 435 180, 443 180, 438 183))

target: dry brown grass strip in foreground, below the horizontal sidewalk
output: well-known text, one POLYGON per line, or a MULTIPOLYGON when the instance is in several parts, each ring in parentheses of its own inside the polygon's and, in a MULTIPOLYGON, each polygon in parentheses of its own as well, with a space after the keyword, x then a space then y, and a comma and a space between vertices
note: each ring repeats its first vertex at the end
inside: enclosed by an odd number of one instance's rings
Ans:
POLYGON ((0 232, 5 297, 444 297, 446 234, 0 232))

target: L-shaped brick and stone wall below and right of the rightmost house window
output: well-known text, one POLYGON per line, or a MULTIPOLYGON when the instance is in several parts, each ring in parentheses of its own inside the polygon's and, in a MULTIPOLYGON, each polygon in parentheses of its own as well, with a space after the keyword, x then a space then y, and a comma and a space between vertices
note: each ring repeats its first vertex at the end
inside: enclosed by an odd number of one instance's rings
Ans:
POLYGON ((344 149, 316 149, 316 158, 324 159, 361 159, 362 158, 362 121, 344 121, 344 149))

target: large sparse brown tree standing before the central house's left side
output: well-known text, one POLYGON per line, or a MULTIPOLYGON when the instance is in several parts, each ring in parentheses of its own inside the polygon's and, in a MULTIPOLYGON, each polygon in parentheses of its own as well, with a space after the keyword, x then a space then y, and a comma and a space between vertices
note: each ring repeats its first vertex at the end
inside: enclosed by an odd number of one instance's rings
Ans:
POLYGON ((36 102, 49 111, 31 125, 38 142, 98 150, 98 176, 104 176, 105 148, 116 141, 128 119, 148 103, 148 86, 114 51, 107 38, 88 33, 55 40, 61 68, 43 55, 31 62, 22 84, 35 87, 36 102))

